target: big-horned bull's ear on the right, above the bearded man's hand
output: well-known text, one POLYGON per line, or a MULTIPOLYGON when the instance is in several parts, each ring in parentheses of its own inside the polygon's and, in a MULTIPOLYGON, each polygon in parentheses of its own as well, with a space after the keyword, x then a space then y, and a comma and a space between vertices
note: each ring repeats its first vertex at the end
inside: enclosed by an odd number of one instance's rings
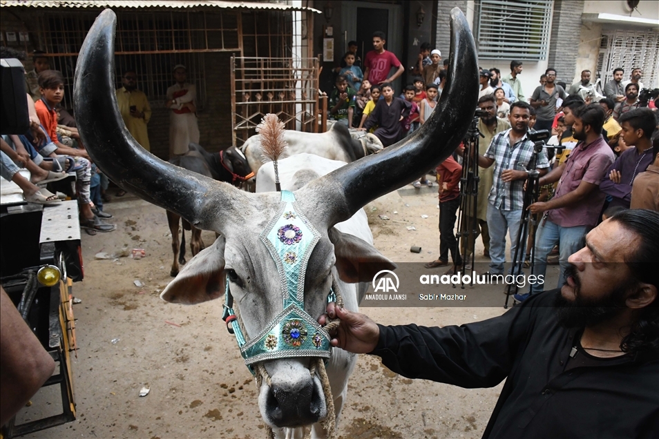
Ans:
POLYGON ((334 244, 336 269, 343 282, 371 282, 378 271, 396 269, 396 264, 384 257, 372 244, 341 233, 335 227, 330 228, 327 234, 334 244))

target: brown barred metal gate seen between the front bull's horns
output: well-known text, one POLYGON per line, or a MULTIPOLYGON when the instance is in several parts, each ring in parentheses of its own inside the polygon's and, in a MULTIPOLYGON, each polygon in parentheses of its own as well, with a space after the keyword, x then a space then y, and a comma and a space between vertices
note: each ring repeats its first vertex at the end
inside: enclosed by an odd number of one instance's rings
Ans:
POLYGON ((318 58, 231 57, 233 146, 256 134, 267 113, 289 130, 318 133, 326 113, 319 104, 319 66, 318 58))

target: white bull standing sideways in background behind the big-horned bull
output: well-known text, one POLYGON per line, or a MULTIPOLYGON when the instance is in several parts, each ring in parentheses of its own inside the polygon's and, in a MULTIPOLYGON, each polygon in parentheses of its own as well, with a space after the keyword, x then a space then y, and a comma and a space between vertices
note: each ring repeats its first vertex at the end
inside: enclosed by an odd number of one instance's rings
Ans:
MULTIPOLYGON (((330 160, 352 163, 383 148, 382 142, 371 133, 356 131, 355 137, 358 137, 358 139, 352 137, 347 127, 341 124, 332 124, 327 133, 303 133, 301 131, 286 130, 284 141, 288 144, 288 148, 285 154, 292 156, 307 153, 330 160)), ((263 166, 261 136, 249 137, 241 149, 247 157, 252 172, 258 175, 258 169, 263 166)))

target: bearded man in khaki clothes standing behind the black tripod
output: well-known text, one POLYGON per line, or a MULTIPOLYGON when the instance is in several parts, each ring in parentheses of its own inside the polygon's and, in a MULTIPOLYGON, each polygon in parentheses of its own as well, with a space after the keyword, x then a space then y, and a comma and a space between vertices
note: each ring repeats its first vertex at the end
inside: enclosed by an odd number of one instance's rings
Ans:
MULTIPOLYGON (((503 133, 506 130, 510 129, 510 124, 505 119, 500 119, 497 117, 497 101, 494 95, 486 95, 478 99, 478 108, 485 110, 488 115, 481 116, 478 121, 478 130, 483 135, 478 142, 478 153, 480 155, 485 155, 492 139, 495 135, 503 133)), ((470 255, 474 252, 472 242, 475 242, 478 235, 481 235, 483 240, 483 246, 485 248, 483 255, 485 257, 490 257, 490 233, 488 231, 488 195, 492 190, 493 180, 494 180, 494 168, 481 168, 478 169, 478 197, 477 197, 477 206, 476 206, 476 217, 473 218, 471 213, 473 212, 472 208, 472 199, 468 204, 467 211, 463 212, 462 215, 466 217, 466 224, 469 224, 469 230, 477 231, 475 237, 469 237, 468 243, 469 246, 464 250, 465 257, 469 259, 470 255)))

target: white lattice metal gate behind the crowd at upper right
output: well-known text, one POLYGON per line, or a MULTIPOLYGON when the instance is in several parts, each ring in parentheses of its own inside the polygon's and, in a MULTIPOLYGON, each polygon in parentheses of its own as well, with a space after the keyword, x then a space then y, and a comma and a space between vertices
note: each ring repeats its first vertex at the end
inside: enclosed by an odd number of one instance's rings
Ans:
POLYGON ((602 84, 613 79, 614 68, 624 68, 623 80, 631 69, 643 69, 644 86, 653 88, 659 75, 659 32, 634 30, 602 30, 598 70, 602 84))

